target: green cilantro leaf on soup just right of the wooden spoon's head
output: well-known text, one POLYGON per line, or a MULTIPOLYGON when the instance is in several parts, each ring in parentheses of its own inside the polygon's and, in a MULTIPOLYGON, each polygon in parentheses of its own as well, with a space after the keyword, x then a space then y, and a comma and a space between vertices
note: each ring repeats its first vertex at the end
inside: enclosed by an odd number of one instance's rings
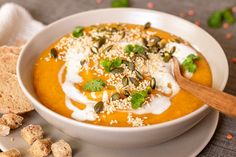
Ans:
POLYGON ((187 56, 187 58, 184 60, 184 62, 182 63, 182 68, 185 71, 194 73, 197 70, 197 65, 195 64, 196 61, 198 61, 200 59, 199 56, 196 56, 194 54, 190 54, 187 56))

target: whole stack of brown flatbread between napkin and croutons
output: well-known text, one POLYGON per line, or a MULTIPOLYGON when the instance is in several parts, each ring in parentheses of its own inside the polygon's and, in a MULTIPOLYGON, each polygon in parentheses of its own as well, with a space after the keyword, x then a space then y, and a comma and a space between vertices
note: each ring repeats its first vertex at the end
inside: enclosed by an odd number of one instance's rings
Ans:
POLYGON ((0 47, 0 113, 22 114, 33 110, 16 78, 19 47, 0 47))

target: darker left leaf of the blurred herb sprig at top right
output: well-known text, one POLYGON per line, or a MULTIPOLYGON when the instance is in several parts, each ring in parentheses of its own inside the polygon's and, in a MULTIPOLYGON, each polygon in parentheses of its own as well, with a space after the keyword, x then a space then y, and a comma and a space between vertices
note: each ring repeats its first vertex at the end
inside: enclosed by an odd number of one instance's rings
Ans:
POLYGON ((223 23, 223 12, 215 11, 208 19, 208 26, 212 28, 219 28, 223 23))

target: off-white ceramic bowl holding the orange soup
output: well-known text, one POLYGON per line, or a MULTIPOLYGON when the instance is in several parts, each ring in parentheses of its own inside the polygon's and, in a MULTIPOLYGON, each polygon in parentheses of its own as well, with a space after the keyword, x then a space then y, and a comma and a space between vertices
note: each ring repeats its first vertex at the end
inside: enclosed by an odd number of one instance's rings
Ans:
POLYGON ((144 24, 165 30, 189 41, 207 59, 213 75, 213 87, 223 90, 228 79, 228 64, 224 51, 207 32, 179 17, 163 12, 144 9, 102 9, 78 13, 47 26, 38 33, 22 50, 18 64, 19 84, 32 102, 36 111, 50 124, 66 134, 89 143, 109 147, 138 147, 158 144, 176 137, 204 118, 210 108, 202 106, 181 118, 138 128, 105 127, 78 122, 66 118, 45 107, 37 98, 32 83, 32 71, 40 53, 75 26, 97 23, 144 24))

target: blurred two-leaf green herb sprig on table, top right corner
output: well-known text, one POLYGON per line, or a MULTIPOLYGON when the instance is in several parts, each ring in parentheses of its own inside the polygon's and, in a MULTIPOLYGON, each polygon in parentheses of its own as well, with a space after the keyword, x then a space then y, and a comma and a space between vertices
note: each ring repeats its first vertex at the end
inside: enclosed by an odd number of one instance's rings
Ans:
POLYGON ((235 17, 231 8, 227 8, 224 11, 214 11, 208 19, 208 26, 220 28, 224 21, 228 24, 233 24, 235 22, 235 17))

